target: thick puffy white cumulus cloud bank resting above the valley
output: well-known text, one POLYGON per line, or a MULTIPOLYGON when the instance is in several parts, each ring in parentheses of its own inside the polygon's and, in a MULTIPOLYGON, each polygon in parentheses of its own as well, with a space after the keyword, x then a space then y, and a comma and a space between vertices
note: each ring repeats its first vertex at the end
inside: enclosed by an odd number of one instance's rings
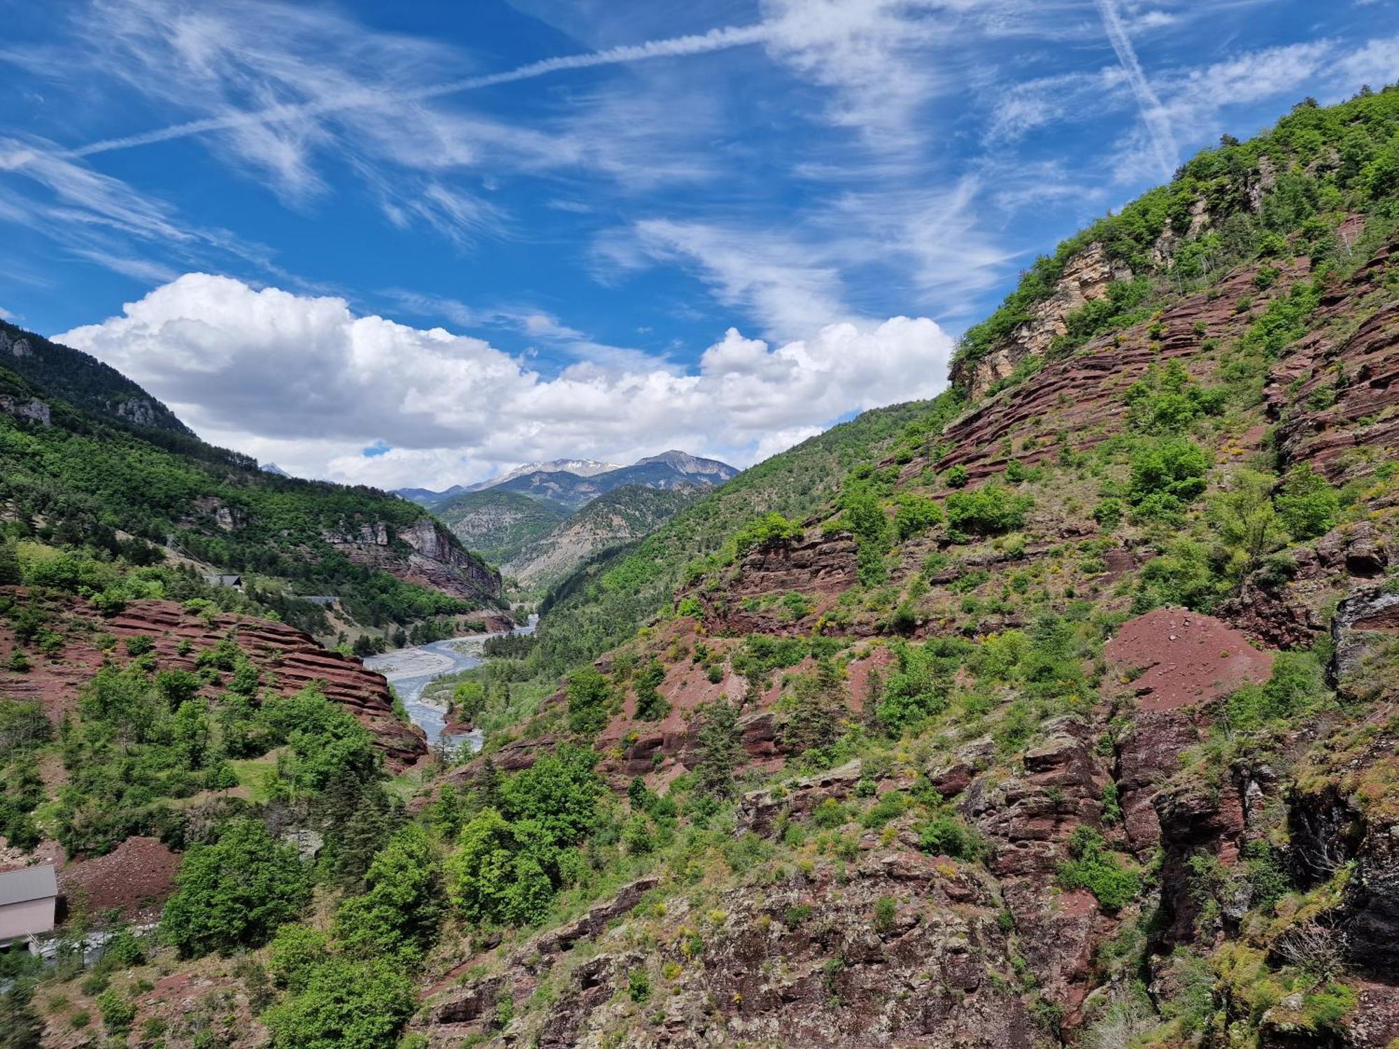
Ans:
POLYGON ((781 345, 729 329, 691 371, 638 354, 546 375, 480 338, 203 273, 56 340, 130 375, 215 443, 386 487, 666 448, 741 466, 851 411, 939 393, 953 350, 933 320, 900 316, 781 345), (390 450, 361 453, 378 442, 390 450))

